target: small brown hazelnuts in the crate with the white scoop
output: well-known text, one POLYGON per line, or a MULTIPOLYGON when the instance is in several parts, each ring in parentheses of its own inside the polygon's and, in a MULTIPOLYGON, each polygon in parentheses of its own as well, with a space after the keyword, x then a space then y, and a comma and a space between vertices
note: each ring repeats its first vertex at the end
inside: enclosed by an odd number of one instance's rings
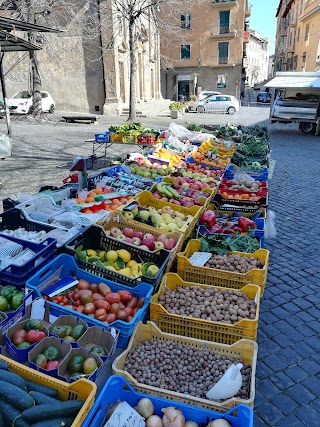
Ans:
MULTIPOLYGON (((129 351, 124 369, 140 384, 206 399, 207 392, 234 363, 242 362, 212 350, 154 338, 129 351)), ((251 366, 243 363, 241 374, 236 397, 248 399, 251 366)))

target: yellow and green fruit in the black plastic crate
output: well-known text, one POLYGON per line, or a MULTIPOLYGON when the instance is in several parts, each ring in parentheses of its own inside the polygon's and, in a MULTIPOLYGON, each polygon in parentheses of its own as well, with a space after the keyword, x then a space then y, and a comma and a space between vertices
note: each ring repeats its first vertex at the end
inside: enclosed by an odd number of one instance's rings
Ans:
MULTIPOLYGON (((121 238, 118 240, 123 239, 121 238)), ((150 251, 150 248, 153 247, 153 245, 151 246, 150 240, 152 240, 150 237, 144 239, 144 244, 140 245, 140 249, 147 248, 146 250, 150 251)), ((138 241, 135 240, 135 242, 137 243, 138 241)), ((159 267, 157 267, 157 265, 155 265, 153 262, 143 262, 143 260, 139 260, 140 262, 138 262, 134 259, 131 259, 131 254, 126 249, 111 249, 109 251, 95 249, 83 250, 82 247, 79 246, 77 248, 77 253, 79 258, 83 261, 95 264, 97 267, 115 271, 127 277, 140 278, 143 275, 148 277, 156 277, 159 272, 159 267)))

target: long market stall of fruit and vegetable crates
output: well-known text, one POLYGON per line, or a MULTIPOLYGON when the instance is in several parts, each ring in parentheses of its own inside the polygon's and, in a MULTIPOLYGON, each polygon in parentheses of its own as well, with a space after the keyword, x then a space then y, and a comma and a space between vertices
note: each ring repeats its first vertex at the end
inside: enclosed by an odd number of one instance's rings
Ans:
POLYGON ((0 215, 0 425, 251 427, 267 129, 123 126, 146 152, 0 215))

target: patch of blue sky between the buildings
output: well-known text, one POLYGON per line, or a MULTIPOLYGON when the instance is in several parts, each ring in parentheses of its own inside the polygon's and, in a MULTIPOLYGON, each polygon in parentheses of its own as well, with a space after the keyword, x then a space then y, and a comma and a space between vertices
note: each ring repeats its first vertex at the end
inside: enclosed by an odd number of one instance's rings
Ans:
POLYGON ((252 4, 250 29, 256 30, 261 37, 269 37, 270 54, 274 53, 276 39, 275 18, 280 0, 249 0, 252 4))

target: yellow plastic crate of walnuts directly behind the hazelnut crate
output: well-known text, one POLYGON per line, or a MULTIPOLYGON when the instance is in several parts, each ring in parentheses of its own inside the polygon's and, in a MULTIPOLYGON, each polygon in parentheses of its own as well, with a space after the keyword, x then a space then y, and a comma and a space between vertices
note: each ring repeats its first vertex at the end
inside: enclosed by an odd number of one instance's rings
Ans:
MULTIPOLYGON (((150 303, 150 320, 156 323, 162 332, 174 335, 183 335, 205 341, 214 341, 222 344, 233 344, 242 338, 256 341, 258 332, 261 289, 256 285, 246 285, 238 292, 244 292, 250 300, 257 303, 256 317, 243 319, 230 325, 229 323, 213 322, 205 319, 197 319, 190 316, 180 316, 169 313, 159 302, 166 289, 175 290, 177 287, 187 288, 199 286, 200 288, 212 288, 210 285, 184 282, 178 274, 168 273, 163 276, 159 291, 153 295, 150 303)), ((216 286, 218 290, 226 289, 216 286)))

